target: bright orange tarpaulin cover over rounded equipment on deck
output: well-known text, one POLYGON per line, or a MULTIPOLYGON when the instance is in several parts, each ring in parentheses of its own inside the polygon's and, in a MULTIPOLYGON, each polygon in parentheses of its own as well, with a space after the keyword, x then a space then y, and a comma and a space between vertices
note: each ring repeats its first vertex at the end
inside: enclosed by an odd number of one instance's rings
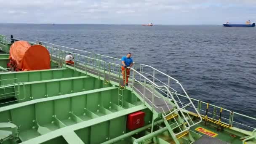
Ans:
POLYGON ((17 68, 24 70, 51 69, 51 59, 48 50, 42 45, 30 45, 27 41, 16 41, 11 45, 11 61, 17 68))

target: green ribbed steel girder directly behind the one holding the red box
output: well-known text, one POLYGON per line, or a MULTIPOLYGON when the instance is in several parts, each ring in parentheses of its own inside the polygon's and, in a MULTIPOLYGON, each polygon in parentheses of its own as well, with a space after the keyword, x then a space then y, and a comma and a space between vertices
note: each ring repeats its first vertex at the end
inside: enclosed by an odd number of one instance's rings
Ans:
MULTIPOLYGON (((22 141, 26 141, 68 125, 123 110, 115 103, 113 95, 117 95, 117 88, 110 87, 6 106, 0 108, 0 122, 11 121, 19 125, 19 137, 22 141)), ((116 121, 113 126, 122 126, 125 120, 123 117, 120 125, 117 125, 118 121, 116 121)), ((102 127, 104 124, 99 126, 102 127)), ((96 133, 98 131, 95 131, 95 135, 96 133)), ((94 141, 97 141, 96 138, 94 141)))

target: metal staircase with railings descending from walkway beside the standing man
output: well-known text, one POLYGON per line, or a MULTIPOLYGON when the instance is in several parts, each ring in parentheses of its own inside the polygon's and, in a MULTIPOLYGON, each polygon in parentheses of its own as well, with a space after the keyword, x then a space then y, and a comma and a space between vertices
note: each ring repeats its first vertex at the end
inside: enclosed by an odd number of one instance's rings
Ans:
POLYGON ((130 87, 133 93, 137 93, 137 95, 139 95, 138 98, 144 101, 144 104, 154 113, 155 117, 153 117, 152 121, 154 122, 154 119, 159 118, 159 116, 162 117, 170 136, 176 144, 180 144, 179 139, 181 138, 182 143, 184 143, 184 141, 186 141, 186 143, 195 141, 190 135, 189 129, 197 123, 194 123, 191 117, 184 112, 188 106, 192 107, 197 112, 197 109, 194 104, 192 104, 189 97, 187 97, 189 103, 181 104, 180 107, 176 99, 174 99, 173 93, 171 93, 165 85, 157 85, 154 83, 154 79, 153 81, 149 80, 149 78, 133 68, 130 68, 130 72, 132 72, 132 76, 130 76, 132 84, 130 87), (165 96, 161 93, 163 90, 167 92, 165 96), (187 117, 185 116, 186 114, 187 117))

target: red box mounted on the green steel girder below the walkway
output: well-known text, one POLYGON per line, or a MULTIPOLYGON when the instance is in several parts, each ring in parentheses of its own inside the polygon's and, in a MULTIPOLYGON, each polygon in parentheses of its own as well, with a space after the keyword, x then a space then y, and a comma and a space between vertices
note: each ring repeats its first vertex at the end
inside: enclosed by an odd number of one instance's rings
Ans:
POLYGON ((137 128, 144 126, 144 117, 145 112, 141 111, 129 114, 127 117, 127 128, 129 130, 135 130, 137 128))

